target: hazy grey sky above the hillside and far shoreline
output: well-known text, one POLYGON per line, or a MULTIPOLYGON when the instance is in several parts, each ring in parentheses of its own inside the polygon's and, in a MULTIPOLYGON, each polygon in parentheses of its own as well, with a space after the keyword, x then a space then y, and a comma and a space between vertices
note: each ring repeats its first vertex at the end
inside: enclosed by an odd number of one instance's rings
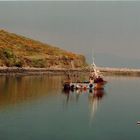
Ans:
POLYGON ((0 28, 82 53, 99 66, 140 67, 140 2, 0 2, 0 28))

